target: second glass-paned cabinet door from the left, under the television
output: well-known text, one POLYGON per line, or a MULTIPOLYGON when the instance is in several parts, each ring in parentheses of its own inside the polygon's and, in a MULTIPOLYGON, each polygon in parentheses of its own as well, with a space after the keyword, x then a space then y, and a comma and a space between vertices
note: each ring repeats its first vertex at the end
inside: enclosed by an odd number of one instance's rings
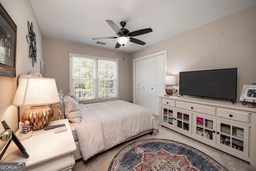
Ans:
POLYGON ((191 113, 181 110, 176 110, 176 120, 175 120, 175 127, 180 131, 190 133, 191 134, 191 113))

